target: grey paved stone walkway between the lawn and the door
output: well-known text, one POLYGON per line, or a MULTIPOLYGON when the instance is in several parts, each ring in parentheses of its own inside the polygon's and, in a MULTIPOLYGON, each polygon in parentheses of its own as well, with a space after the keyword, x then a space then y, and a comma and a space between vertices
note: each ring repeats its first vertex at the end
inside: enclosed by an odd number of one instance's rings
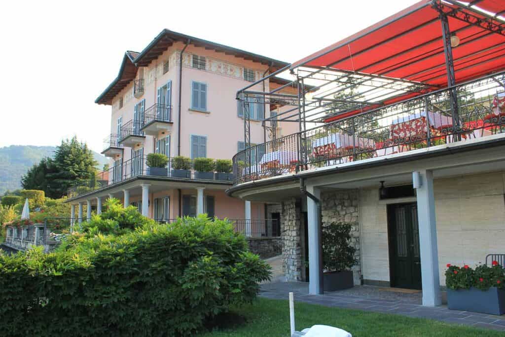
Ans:
MULTIPOLYGON (((319 304, 327 307, 359 309, 409 317, 436 319, 447 323, 472 325, 475 327, 505 331, 505 315, 494 316, 468 311, 449 310, 442 305, 435 308, 421 305, 421 292, 397 293, 389 288, 362 285, 354 288, 329 292, 324 295, 309 295, 309 284, 305 282, 276 282, 261 286, 261 297, 288 299, 294 293, 296 301, 319 304)), ((324 324, 324 322, 321 322, 324 324)))

